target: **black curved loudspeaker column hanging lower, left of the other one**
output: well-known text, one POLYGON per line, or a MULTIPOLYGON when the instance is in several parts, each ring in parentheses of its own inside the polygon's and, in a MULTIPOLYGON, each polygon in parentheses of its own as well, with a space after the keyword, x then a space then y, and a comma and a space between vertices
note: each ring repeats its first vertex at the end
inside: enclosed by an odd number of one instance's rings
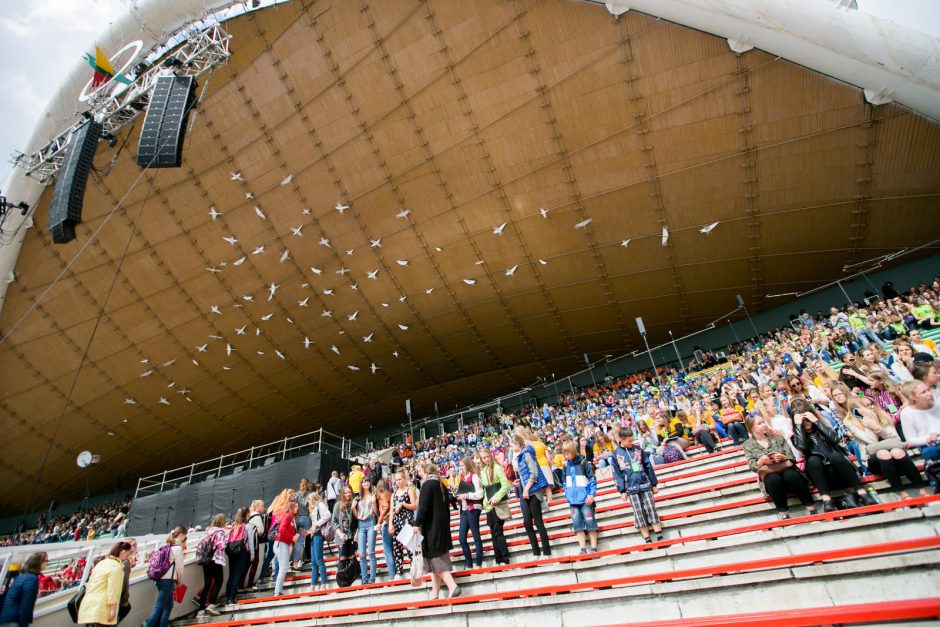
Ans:
POLYGON ((75 239, 75 225, 82 221, 85 184, 91 171, 92 160, 101 139, 101 124, 85 122, 69 142, 59 176, 52 191, 49 207, 49 231, 52 241, 65 244, 75 239))

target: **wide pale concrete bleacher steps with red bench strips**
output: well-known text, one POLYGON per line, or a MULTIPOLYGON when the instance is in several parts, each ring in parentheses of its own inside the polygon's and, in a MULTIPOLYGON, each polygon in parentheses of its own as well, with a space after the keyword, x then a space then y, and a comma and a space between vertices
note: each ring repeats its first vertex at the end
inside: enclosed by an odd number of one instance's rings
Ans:
MULTIPOLYGON (((174 625, 820 625, 927 624, 940 618, 940 496, 778 520, 739 447, 657 468, 666 538, 645 544, 609 470, 599 471, 600 552, 579 555, 563 496, 545 522, 552 556, 533 559, 518 503, 505 531, 513 563, 461 570, 463 594, 430 599, 407 579, 313 591, 291 572, 284 594, 262 589, 218 618, 174 625)), ((876 478, 877 479, 877 478, 876 478)), ((472 545, 472 541, 471 541, 472 545)), ((381 542, 379 575, 384 572, 381 542)), ((332 580, 336 558, 327 559, 332 580)), ((487 565, 489 564, 489 565, 487 565)), ((427 578, 425 578, 427 579, 427 578)), ((446 593, 442 592, 442 596, 446 593)))

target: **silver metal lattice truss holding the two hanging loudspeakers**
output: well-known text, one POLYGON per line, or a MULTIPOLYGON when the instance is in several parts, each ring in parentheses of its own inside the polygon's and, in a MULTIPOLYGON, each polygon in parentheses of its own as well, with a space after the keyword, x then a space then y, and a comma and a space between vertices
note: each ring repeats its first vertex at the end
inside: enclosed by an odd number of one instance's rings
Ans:
MULTIPOLYGON (((231 54, 231 35, 217 22, 201 24, 206 27, 190 25, 171 37, 166 46, 161 46, 148 55, 143 65, 148 65, 147 62, 151 64, 138 76, 133 77, 133 83, 127 89, 117 94, 109 92, 91 100, 91 106, 83 113, 84 118, 95 118, 103 126, 103 136, 114 136, 146 110, 157 77, 171 73, 177 76, 199 77, 225 63, 231 54), (168 53, 168 47, 175 49, 168 53)), ((59 133, 36 152, 28 155, 14 153, 11 162, 24 168, 27 177, 48 185, 62 166, 66 147, 72 135, 85 121, 84 118, 59 133)))

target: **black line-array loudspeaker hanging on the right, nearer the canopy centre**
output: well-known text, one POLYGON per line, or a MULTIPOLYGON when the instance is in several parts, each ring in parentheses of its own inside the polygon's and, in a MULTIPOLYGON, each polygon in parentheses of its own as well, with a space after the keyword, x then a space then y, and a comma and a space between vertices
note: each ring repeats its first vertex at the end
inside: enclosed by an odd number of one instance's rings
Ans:
POLYGON ((137 165, 142 168, 178 168, 183 163, 183 139, 189 111, 196 100, 192 76, 160 76, 140 131, 137 165))

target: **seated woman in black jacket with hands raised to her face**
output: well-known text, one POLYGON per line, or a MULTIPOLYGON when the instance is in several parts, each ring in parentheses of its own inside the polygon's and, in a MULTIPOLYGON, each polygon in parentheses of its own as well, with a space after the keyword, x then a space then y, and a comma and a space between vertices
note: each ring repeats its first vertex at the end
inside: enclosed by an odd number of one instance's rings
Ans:
MULTIPOLYGON (((790 405, 790 415, 793 419, 793 446, 806 460, 806 474, 819 490, 823 511, 835 511, 831 490, 838 487, 853 489, 864 505, 874 505, 874 499, 862 487, 839 437, 819 411, 811 403, 795 399, 790 405)), ((844 501, 850 508, 858 507, 851 494, 845 496, 844 501)))

